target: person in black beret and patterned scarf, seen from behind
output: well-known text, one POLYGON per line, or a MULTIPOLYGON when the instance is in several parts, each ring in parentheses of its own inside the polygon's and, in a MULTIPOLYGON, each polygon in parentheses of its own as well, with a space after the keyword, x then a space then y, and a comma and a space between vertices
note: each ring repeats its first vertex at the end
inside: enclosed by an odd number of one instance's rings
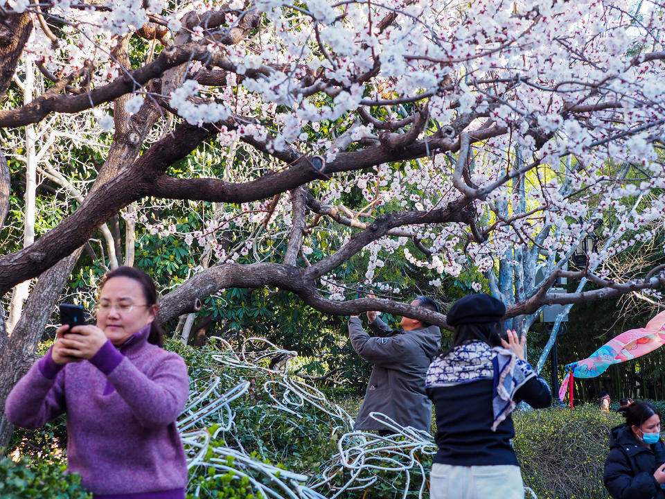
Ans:
POLYGON ((446 315, 452 348, 434 359, 425 379, 438 446, 431 499, 524 498, 511 412, 520 401, 549 407, 552 397, 524 360, 526 336, 500 336, 505 313, 502 301, 478 294, 459 299, 446 315))

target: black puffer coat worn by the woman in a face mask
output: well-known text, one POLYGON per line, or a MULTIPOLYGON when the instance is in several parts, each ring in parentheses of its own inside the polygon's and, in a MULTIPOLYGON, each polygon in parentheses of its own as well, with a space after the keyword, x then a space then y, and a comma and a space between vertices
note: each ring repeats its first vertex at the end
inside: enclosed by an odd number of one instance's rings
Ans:
POLYGON ((613 499, 665 499, 665 490, 653 478, 664 462, 662 440, 646 447, 628 426, 620 425, 612 428, 603 482, 613 499))

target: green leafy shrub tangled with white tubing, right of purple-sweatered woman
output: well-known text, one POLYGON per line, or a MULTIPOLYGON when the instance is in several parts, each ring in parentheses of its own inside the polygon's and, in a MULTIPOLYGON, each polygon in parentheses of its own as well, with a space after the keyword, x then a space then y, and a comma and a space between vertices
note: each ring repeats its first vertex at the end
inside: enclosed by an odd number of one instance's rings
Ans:
MULTIPOLYGON (((317 474, 321 464, 336 452, 339 430, 333 430, 339 421, 331 420, 328 414, 306 403, 299 409, 297 416, 275 408, 270 395, 281 400, 284 392, 278 385, 273 385, 269 392, 265 391, 265 383, 274 380, 274 376, 269 372, 216 362, 211 354, 224 356, 224 353, 215 349, 214 340, 211 345, 200 349, 186 347, 177 340, 167 340, 165 347, 184 358, 195 391, 204 389, 212 376, 220 377, 219 392, 227 391, 241 380, 249 381, 247 394, 232 403, 235 412, 233 429, 220 433, 220 440, 226 440, 229 446, 244 449, 260 462, 279 463, 276 466, 284 466, 296 473, 312 477, 317 474)), ((214 433, 220 423, 218 414, 211 415, 201 423, 209 427, 211 434, 214 433)), ((215 446, 214 441, 211 446, 215 446)), ((204 461, 215 457, 210 453, 204 461)), ((224 483, 222 489, 215 489, 215 484, 225 482, 228 477, 223 478, 223 473, 209 473, 212 471, 206 468, 205 464, 190 469, 188 493, 200 489, 200 497, 216 498, 215 494, 218 492, 240 494, 242 489, 249 490, 239 477, 224 483)), ((263 480, 259 475, 254 478, 263 480)))

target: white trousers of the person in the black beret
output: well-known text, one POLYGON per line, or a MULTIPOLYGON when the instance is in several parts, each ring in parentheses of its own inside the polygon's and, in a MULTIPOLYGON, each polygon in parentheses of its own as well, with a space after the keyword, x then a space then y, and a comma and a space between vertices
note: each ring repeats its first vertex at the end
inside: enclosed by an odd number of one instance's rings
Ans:
POLYGON ((432 464, 430 499, 524 499, 520 466, 432 464))

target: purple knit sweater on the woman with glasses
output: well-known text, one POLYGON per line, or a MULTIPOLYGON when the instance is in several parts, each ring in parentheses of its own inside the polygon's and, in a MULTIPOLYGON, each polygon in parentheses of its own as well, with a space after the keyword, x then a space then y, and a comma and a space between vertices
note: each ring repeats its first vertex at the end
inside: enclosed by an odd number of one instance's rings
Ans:
POLYGON ((187 401, 184 360, 148 343, 150 325, 89 361, 37 360, 5 403, 9 421, 39 428, 67 412, 69 471, 97 499, 181 499, 187 465, 175 419, 187 401))

